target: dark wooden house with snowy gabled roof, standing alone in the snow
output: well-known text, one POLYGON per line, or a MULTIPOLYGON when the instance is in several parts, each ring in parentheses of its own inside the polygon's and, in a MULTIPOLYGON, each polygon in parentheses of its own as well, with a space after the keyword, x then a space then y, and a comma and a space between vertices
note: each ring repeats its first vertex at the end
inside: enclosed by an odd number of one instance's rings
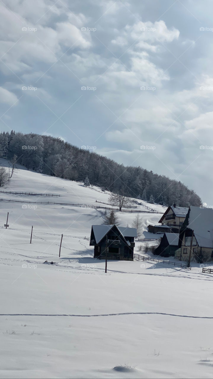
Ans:
POLYGON ((136 228, 116 225, 92 225, 90 246, 94 246, 94 258, 133 260, 137 237, 136 228))

